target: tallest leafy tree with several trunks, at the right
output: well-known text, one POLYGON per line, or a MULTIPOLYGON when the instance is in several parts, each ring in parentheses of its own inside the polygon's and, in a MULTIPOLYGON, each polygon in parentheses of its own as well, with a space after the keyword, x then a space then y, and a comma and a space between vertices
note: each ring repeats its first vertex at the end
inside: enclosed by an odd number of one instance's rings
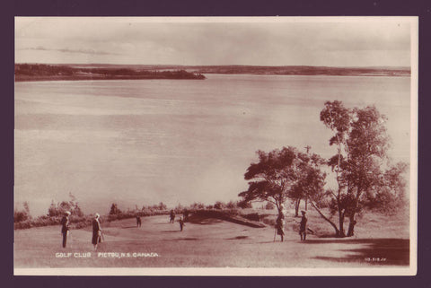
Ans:
POLYGON ((337 145, 337 154, 328 164, 335 171, 338 188, 326 193, 321 190, 316 197, 311 197, 311 204, 334 227, 338 237, 353 236, 357 213, 372 205, 388 205, 386 201, 391 201, 388 195, 403 194, 402 173, 407 166, 402 163, 391 166, 387 156, 386 118, 374 106, 346 109, 340 101, 328 101, 321 111, 321 121, 335 133, 330 145, 337 145), (330 211, 338 214, 339 226, 332 223, 317 204, 317 198, 323 196, 330 198, 330 211), (344 231, 346 217, 349 220, 347 235, 344 231))

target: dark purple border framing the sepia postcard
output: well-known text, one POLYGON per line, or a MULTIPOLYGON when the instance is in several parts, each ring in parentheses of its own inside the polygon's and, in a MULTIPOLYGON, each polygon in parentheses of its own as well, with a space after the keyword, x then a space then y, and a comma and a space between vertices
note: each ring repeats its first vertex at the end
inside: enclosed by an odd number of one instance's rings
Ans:
POLYGON ((2 284, 4 287, 429 287, 431 204, 428 123, 431 2, 424 1, 189 1, 15 0, 2 2, 2 284), (415 277, 58 277, 13 276, 13 16, 419 16, 418 275, 415 277), (422 220, 422 221, 421 221, 422 220))

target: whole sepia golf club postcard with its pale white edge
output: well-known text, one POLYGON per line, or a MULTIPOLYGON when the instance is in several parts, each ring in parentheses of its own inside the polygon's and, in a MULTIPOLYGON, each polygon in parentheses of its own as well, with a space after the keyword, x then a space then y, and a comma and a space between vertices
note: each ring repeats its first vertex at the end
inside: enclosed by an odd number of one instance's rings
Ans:
POLYGON ((14 275, 416 275, 418 17, 14 21, 14 275))

